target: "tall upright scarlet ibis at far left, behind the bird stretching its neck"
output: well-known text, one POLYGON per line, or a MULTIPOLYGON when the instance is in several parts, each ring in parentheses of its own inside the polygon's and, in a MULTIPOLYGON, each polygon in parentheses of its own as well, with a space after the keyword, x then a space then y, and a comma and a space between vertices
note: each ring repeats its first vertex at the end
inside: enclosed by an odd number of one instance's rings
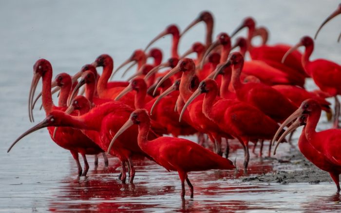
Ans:
MULTIPOLYGON (((42 104, 46 115, 53 110, 65 110, 65 107, 57 107, 53 104, 51 96, 51 79, 52 79, 52 66, 51 63, 46 59, 39 59, 33 66, 34 76, 32 79, 32 84, 29 93, 29 116, 33 118, 32 113, 32 100, 39 82, 42 78, 42 104)), ((48 131, 50 136, 53 136, 54 127, 49 127, 48 131)), ((79 130, 73 128, 60 128, 57 131, 55 137, 52 137, 53 141, 57 143, 58 146, 67 149, 71 152, 74 159, 76 160, 78 174, 86 175, 89 169, 89 164, 85 155, 97 155, 102 153, 103 150, 95 144, 94 141, 89 139, 87 136, 82 134, 79 130), (84 160, 84 171, 82 173, 82 168, 79 163, 78 153, 80 153, 84 160)))

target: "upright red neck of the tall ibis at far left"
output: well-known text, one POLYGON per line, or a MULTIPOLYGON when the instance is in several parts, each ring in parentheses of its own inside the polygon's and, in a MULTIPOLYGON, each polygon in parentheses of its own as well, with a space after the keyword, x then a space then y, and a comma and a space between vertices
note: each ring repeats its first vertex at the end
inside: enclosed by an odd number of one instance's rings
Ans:
POLYGON ((42 105, 44 107, 46 115, 48 115, 53 108, 52 94, 51 94, 51 80, 52 69, 45 72, 42 76, 42 105))

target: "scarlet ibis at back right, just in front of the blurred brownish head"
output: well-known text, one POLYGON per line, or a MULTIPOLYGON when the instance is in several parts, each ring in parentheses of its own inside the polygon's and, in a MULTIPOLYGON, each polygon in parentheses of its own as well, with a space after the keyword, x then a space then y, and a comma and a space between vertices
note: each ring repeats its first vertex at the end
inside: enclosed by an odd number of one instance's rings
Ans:
MULTIPOLYGON (((256 28, 256 22, 253 18, 247 17, 243 20, 242 24, 231 34, 231 38, 235 36, 244 27, 248 28, 247 33, 247 49, 250 56, 254 60, 263 60, 265 62, 275 61, 281 63, 283 54, 290 49, 289 45, 286 44, 276 44, 276 45, 261 45, 259 47, 252 46, 251 39, 253 38, 253 33, 256 28)), ((303 66, 300 62, 302 54, 299 51, 295 51, 290 58, 284 63, 284 65, 290 67, 291 69, 305 75, 303 66)))

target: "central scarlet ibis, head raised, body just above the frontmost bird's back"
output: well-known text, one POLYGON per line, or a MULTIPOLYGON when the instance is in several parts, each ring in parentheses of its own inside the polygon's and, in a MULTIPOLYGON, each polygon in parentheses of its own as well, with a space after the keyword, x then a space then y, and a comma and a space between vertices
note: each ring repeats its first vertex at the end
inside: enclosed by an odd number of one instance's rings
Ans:
MULTIPOLYGON (((179 90, 183 100, 187 101, 192 94, 192 91, 189 90, 189 85, 195 73, 194 61, 190 58, 181 59, 178 62, 178 65, 160 80, 158 85, 176 73, 182 73, 179 90)), ((158 85, 156 86, 155 91, 158 88, 158 85)), ((209 139, 214 144, 214 151, 222 155, 220 149, 221 137, 231 138, 231 136, 220 131, 218 126, 202 113, 202 99, 198 99, 198 101, 192 103, 188 108, 188 113, 190 119, 188 123, 193 124, 193 127, 198 130, 198 132, 208 134, 209 139)))

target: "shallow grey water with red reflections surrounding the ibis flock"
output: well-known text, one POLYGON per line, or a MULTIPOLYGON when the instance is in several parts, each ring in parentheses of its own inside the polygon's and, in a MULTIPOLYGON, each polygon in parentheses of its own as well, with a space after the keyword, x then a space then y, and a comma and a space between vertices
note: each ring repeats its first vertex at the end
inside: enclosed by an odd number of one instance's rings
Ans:
MULTIPOLYGON (((117 179, 119 162, 94 169, 89 157, 88 177, 77 178, 76 166, 68 151, 52 142, 46 130, 25 137, 6 154, 12 141, 32 126, 27 116, 28 88, 32 66, 46 58, 60 72, 76 71, 98 55, 108 53, 115 66, 134 49, 147 42, 170 23, 183 29, 204 10, 213 12, 215 34, 231 32, 241 19, 253 16, 270 30, 270 43, 294 44, 303 35, 313 35, 322 20, 334 11, 338 1, 1 1, 0 7, 0 212, 45 211, 335 211, 340 209, 334 183, 248 184, 236 179, 234 171, 189 174, 194 199, 179 196, 180 182, 152 162, 136 166, 135 185, 117 179), (156 9, 157 8, 157 9, 156 9)), ((329 58, 341 63, 340 29, 337 18, 322 30, 313 58, 329 58)), ((204 27, 195 27, 180 43, 180 52, 195 40, 203 40, 204 27), (199 36, 197 36, 199 35, 199 36)), ((244 32, 245 33, 245 32, 244 32)), ((156 46, 170 47, 170 39, 156 46)), ((165 52, 165 58, 169 52, 165 52)), ((133 71, 132 71, 133 72, 133 71)), ((117 77, 116 77, 117 78, 117 77)), ((39 88, 39 87, 38 87, 39 88)), ((312 81, 307 88, 314 89, 312 81)), ((34 111, 36 120, 44 113, 34 111)), ((330 128, 323 122, 319 129, 330 128)), ((296 138, 298 136, 296 135, 296 138)), ((193 138, 192 138, 193 139, 193 138)), ((288 151, 284 145, 282 155, 288 151)), ((232 152, 241 167, 242 152, 232 152)), ((279 155, 280 156, 280 155, 279 155)), ((279 157, 277 156, 277 157, 279 157)), ((273 171, 269 160, 251 155, 250 174, 273 171)))

